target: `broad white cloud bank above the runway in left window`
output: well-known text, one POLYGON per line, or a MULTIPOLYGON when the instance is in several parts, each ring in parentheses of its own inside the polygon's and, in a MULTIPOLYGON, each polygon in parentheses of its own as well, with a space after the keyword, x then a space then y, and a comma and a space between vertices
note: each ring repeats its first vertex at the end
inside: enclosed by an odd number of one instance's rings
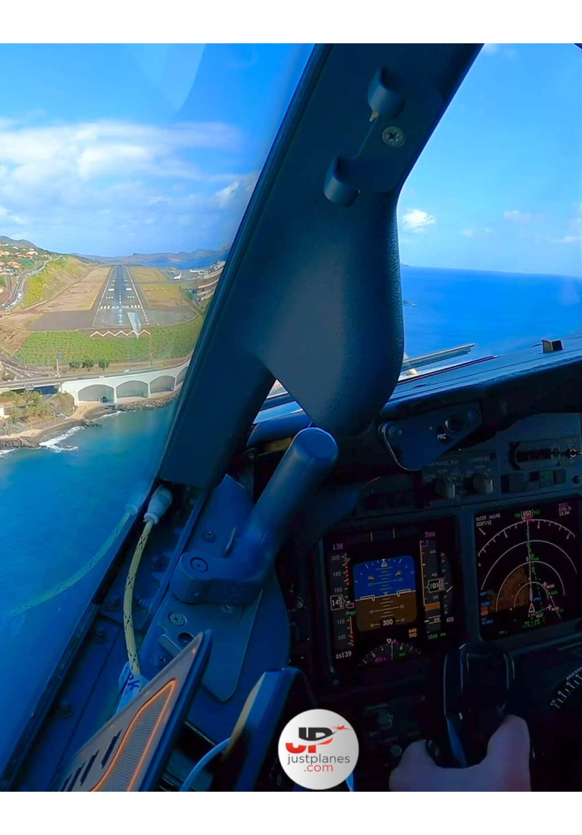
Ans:
POLYGON ((26 225, 38 245, 89 255, 223 245, 257 179, 232 164, 241 141, 221 123, 0 120, 0 235, 26 225))

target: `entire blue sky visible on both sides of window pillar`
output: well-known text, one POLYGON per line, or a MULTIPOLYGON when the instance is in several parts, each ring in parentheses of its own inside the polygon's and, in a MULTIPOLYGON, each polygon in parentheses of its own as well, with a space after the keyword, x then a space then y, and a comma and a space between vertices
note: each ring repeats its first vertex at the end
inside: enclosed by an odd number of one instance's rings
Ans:
MULTIPOLYGON (((310 53, 4 45, 0 234, 121 255, 229 243, 310 53)), ((402 191, 412 266, 582 276, 582 51, 488 44, 402 191)))

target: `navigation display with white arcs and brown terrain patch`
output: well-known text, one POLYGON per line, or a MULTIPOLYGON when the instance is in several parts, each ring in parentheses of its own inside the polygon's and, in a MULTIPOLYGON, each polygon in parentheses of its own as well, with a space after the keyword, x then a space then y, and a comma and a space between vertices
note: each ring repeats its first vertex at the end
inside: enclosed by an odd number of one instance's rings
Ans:
POLYGON ((578 617, 582 560, 576 498, 475 517, 483 638, 578 617))

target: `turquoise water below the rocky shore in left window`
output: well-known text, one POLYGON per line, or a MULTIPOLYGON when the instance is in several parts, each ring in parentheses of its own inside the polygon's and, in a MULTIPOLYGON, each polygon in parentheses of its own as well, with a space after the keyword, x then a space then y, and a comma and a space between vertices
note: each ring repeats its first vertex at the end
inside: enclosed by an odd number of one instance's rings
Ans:
POLYGON ((105 417, 40 450, 0 458, 0 763, 13 746, 109 564, 16 616, 8 613, 81 569, 125 504, 155 476, 176 404, 105 417))

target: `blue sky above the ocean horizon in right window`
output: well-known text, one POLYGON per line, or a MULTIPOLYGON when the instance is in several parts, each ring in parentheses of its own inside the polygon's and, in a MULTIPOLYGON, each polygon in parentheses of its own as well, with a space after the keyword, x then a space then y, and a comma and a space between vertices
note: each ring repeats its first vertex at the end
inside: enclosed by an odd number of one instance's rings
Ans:
POLYGON ((582 50, 487 44, 398 215, 411 266, 582 276, 582 50))

